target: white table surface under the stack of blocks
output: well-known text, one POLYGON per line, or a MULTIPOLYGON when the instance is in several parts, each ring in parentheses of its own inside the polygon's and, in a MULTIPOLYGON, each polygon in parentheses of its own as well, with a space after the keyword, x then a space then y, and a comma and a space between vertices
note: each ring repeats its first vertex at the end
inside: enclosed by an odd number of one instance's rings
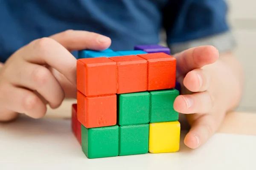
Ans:
POLYGON ((256 136, 216 133, 191 150, 181 135, 177 153, 88 159, 70 120, 20 118, 0 124, 0 170, 255 170, 256 136))

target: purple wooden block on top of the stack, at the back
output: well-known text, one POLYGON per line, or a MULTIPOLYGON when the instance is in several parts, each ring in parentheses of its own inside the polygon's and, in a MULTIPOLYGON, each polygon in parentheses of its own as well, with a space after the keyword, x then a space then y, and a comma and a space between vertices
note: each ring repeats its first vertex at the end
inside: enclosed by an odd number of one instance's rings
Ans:
POLYGON ((171 50, 169 48, 160 45, 139 45, 135 46, 134 50, 143 50, 147 53, 164 52, 168 55, 171 55, 171 50))

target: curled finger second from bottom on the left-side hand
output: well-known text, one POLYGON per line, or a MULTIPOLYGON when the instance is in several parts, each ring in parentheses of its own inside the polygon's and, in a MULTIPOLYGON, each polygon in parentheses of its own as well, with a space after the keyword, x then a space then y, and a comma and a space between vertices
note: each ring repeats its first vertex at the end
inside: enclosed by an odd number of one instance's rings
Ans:
POLYGON ((8 77, 11 84, 37 91, 52 108, 61 105, 64 91, 46 67, 21 61, 20 67, 12 70, 12 76, 8 77))

